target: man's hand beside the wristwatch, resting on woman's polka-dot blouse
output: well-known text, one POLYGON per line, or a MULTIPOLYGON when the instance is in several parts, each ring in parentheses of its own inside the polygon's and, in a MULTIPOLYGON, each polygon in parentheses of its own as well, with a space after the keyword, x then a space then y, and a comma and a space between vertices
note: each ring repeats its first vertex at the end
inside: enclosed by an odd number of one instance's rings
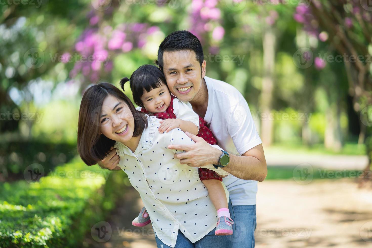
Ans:
POLYGON ((195 144, 192 145, 169 145, 168 149, 186 151, 175 154, 174 158, 180 160, 180 164, 187 164, 191 167, 202 167, 209 164, 218 164, 221 150, 212 147, 203 138, 186 132, 195 144))

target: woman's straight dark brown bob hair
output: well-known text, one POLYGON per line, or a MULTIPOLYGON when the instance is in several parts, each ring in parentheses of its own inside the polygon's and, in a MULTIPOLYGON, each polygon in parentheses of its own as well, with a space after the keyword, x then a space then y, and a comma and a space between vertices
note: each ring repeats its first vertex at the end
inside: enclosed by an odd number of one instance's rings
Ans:
POLYGON ((77 126, 77 151, 87 165, 103 160, 116 142, 99 134, 103 101, 109 95, 124 102, 131 110, 134 118, 133 137, 140 135, 147 127, 144 113, 136 110, 131 100, 119 88, 109 83, 99 83, 87 88, 81 99, 77 126))

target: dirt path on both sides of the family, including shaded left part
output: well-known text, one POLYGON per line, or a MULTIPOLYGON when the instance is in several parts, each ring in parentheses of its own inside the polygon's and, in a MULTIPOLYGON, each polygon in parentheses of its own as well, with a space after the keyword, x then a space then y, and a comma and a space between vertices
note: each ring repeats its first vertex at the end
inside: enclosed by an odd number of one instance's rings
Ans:
MULTIPOLYGON (((132 219, 141 209, 138 193, 125 189, 125 199, 109 220, 107 242, 87 236, 90 248, 155 248, 151 225, 135 228, 132 219)), ((372 191, 358 189, 350 179, 293 180, 259 183, 256 247, 372 247, 372 191), (369 241, 369 242, 367 242, 369 241)))

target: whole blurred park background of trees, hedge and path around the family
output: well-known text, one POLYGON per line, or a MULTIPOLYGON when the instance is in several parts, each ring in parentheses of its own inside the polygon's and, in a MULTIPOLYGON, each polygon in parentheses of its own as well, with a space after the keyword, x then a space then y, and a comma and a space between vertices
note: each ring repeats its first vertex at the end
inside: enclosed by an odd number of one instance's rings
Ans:
POLYGON ((125 173, 76 156, 77 117, 87 86, 118 86, 175 30, 201 40, 206 75, 243 94, 262 138, 256 246, 371 245, 370 1, 3 0, 0 11, 0 247, 155 247, 151 227, 131 226, 141 201, 125 173))

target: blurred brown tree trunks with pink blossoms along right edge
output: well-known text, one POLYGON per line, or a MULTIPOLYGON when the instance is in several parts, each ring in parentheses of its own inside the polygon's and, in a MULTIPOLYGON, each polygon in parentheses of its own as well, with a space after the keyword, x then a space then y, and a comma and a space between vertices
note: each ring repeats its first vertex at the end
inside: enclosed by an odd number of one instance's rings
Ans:
MULTIPOLYGON (((322 40, 322 33, 330 46, 342 55, 349 94, 353 97, 354 111, 360 114, 359 143, 366 140, 369 155, 368 169, 372 161, 372 7, 366 1, 310 1, 310 7, 298 7, 295 19, 304 29, 322 40), (324 31, 324 32, 319 32, 324 31)), ((323 67, 325 61, 315 61, 323 67)), ((336 102, 339 106, 339 101, 336 102)), ((339 110, 337 110, 339 112, 339 110)))

